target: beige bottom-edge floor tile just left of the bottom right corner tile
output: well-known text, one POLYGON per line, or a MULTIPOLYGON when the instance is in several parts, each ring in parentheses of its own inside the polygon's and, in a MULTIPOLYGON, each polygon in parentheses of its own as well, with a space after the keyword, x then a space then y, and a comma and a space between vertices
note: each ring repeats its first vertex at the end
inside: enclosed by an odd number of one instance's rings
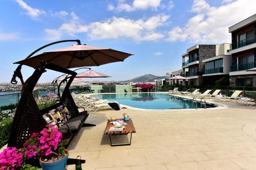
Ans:
POLYGON ((199 164, 206 170, 236 170, 241 169, 233 162, 225 160, 210 160, 210 161, 199 161, 199 164))

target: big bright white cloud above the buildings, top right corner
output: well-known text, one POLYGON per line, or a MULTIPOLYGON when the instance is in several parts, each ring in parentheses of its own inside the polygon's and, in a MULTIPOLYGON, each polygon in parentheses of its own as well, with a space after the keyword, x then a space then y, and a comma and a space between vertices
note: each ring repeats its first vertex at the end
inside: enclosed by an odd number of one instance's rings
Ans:
POLYGON ((256 1, 237 0, 220 7, 211 7, 204 0, 194 0, 191 17, 184 27, 176 26, 169 31, 168 41, 223 43, 230 42, 228 28, 255 14, 256 1), (245 10, 246 9, 246 10, 245 10))

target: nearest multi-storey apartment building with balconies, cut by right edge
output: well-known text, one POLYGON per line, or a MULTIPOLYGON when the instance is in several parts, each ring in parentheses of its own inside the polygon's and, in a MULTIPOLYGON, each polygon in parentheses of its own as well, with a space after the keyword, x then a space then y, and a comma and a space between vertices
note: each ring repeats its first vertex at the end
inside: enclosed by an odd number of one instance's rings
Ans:
POLYGON ((256 14, 229 27, 232 55, 229 72, 230 86, 256 86, 256 14))

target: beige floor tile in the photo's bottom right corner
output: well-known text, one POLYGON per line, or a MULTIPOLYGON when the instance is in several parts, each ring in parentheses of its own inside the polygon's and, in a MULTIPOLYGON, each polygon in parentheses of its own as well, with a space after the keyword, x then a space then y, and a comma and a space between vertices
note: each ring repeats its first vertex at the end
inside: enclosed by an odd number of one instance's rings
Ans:
POLYGON ((230 160, 243 169, 255 168, 256 166, 256 157, 237 158, 237 159, 230 159, 230 160))

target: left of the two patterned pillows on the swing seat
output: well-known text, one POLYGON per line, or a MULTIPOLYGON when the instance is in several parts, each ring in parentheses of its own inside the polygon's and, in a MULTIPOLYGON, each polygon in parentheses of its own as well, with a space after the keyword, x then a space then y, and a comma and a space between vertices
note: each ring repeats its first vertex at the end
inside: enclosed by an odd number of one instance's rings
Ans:
MULTIPOLYGON (((65 119, 60 114, 60 112, 56 109, 50 110, 49 113, 44 114, 44 117, 47 125, 56 125, 56 123, 63 123, 65 119)), ((57 124, 57 127, 61 127, 63 124, 57 124)))

